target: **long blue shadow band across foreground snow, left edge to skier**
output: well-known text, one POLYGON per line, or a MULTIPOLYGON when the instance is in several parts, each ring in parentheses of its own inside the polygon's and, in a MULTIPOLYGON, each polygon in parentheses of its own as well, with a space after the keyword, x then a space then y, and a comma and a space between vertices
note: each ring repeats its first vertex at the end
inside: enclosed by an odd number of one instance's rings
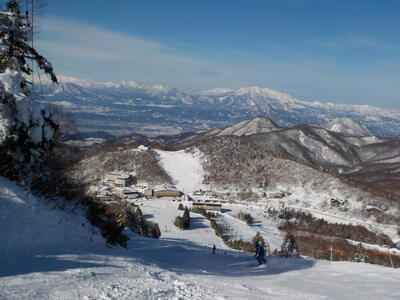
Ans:
MULTIPOLYGON (((195 226, 195 225, 193 225, 195 226)), ((313 260, 267 257, 267 268, 249 267, 256 263, 251 253, 218 249, 194 244, 184 239, 151 239, 130 234, 128 249, 107 248, 94 245, 91 249, 76 251, 36 251, 0 261, 0 277, 23 275, 34 272, 57 272, 79 268, 121 268, 121 262, 140 262, 157 265, 178 274, 222 275, 229 277, 274 275, 294 270, 312 268, 313 260), (118 264, 114 263, 118 260, 118 264), (106 262, 106 263, 105 263, 106 262)), ((123 267, 123 266, 122 266, 123 267)))

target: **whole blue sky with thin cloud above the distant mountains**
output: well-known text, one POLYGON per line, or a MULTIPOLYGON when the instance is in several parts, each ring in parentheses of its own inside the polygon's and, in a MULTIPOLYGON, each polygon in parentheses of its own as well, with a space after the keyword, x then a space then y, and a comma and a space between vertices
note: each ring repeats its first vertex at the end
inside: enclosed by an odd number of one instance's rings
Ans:
POLYGON ((53 0, 36 43, 64 75, 400 109, 399 11, 397 0, 53 0))

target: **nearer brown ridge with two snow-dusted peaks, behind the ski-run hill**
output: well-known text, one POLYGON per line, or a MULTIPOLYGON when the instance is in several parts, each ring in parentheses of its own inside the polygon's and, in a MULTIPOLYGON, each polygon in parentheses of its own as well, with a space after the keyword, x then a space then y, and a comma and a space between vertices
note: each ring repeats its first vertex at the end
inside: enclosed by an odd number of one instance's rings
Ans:
POLYGON ((256 117, 223 129, 150 138, 131 134, 103 145, 188 147, 224 136, 238 137, 241 143, 257 145, 268 153, 329 170, 385 192, 390 185, 391 193, 400 194, 400 138, 379 137, 362 123, 348 118, 336 118, 320 126, 283 128, 265 117, 256 117))

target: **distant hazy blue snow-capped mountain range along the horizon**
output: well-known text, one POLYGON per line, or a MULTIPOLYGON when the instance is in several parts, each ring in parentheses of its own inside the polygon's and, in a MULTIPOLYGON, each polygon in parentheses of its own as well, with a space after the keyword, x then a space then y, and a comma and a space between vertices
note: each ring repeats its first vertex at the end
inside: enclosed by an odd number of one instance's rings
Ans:
MULTIPOLYGON (((212 89, 189 94, 177 89, 133 81, 97 83, 59 76, 58 86, 43 84, 42 101, 72 111, 81 131, 177 134, 229 125, 264 116, 283 127, 322 124, 335 118, 360 121, 379 135, 400 134, 400 111, 367 105, 343 105, 298 100, 267 88, 212 89)), ((326 129, 337 131, 331 123, 326 129)), ((342 122, 343 128, 347 128, 342 122)), ((360 128, 357 129, 359 131, 360 128)), ((341 131, 343 131, 341 129, 341 131)), ((347 133, 353 134, 351 128, 347 133)))

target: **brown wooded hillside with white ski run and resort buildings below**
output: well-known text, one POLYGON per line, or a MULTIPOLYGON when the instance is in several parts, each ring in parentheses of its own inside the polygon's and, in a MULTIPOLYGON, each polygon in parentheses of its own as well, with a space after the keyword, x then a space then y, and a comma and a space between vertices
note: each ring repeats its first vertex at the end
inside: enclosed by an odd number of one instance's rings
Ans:
MULTIPOLYGON (((300 228, 296 234, 301 240, 307 232, 301 229, 304 221, 308 222, 315 240, 300 242, 299 246, 306 255, 310 255, 311 250, 312 257, 326 243, 332 243, 329 242, 331 238, 349 253, 356 253, 357 245, 365 248, 365 255, 370 255, 371 261, 384 265, 389 261, 386 258, 374 260, 373 252, 387 252, 385 247, 392 248, 389 251, 393 255, 399 251, 396 250, 396 244, 400 242, 398 202, 348 185, 329 172, 291 157, 265 151, 257 144, 242 143, 238 137, 211 137, 184 150, 161 150, 159 146, 152 150, 133 144, 112 146, 109 151, 103 150, 84 161, 79 167, 84 169, 77 169, 77 172, 81 174, 80 181, 94 179, 88 182, 91 191, 99 190, 97 185, 104 181, 107 172, 121 170, 133 174, 135 184, 132 188, 143 198, 121 201, 138 205, 144 216, 159 224, 162 236, 163 231, 168 235, 174 228, 178 204, 193 209, 198 202, 206 206, 206 203, 220 203, 222 214, 215 220, 225 228, 225 236, 251 241, 259 232, 267 243, 271 243, 271 253, 279 250, 283 236, 291 226, 294 226, 291 231, 297 232, 296 227, 300 228), (146 161, 151 161, 152 165, 146 161), (176 188, 181 196, 174 194, 155 202, 155 196, 151 195, 158 195, 160 188, 168 193, 175 193, 176 188), (152 192, 149 194, 148 191, 152 192), (236 217, 239 212, 253 216, 254 226, 243 228, 236 217), (321 231, 315 232, 312 228, 318 222, 325 223, 319 225, 323 228, 321 231), (337 224, 347 226, 342 230, 354 231, 354 234, 335 235, 332 229, 337 224)), ((204 217, 196 215, 194 219, 204 217)), ((352 260, 351 256, 335 259, 352 260)))

